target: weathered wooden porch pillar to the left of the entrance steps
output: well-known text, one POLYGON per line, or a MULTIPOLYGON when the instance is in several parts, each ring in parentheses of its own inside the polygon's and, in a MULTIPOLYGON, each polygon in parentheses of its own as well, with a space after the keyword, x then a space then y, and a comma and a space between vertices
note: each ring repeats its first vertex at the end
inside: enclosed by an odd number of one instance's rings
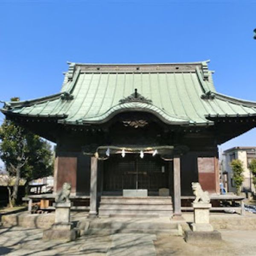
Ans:
POLYGON ((90 166, 90 212, 89 215, 97 214, 97 171, 98 159, 91 157, 90 166))

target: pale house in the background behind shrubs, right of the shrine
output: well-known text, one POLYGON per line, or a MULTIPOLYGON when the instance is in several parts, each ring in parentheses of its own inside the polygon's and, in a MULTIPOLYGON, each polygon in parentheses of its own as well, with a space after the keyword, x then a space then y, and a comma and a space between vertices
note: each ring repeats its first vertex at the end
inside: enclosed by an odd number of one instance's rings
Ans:
POLYGON ((244 168, 244 182, 241 187, 241 191, 249 192, 255 191, 252 182, 252 174, 248 168, 250 161, 256 158, 256 147, 234 147, 229 148, 223 152, 223 180, 224 185, 227 187, 228 192, 236 192, 236 187, 233 182, 233 172, 230 163, 233 159, 239 159, 243 163, 244 168), (226 184, 225 184, 226 183, 226 184))

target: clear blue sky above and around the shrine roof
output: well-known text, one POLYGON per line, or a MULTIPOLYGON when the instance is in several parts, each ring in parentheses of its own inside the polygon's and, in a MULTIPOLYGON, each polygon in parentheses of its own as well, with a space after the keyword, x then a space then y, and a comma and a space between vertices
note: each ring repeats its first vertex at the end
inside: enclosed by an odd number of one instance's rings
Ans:
MULTIPOLYGON (((210 59, 218 92, 256 101, 255 13, 246 0, 0 0, 0 100, 57 93, 67 61, 210 59)), ((255 146, 256 129, 221 148, 236 145, 255 146)))

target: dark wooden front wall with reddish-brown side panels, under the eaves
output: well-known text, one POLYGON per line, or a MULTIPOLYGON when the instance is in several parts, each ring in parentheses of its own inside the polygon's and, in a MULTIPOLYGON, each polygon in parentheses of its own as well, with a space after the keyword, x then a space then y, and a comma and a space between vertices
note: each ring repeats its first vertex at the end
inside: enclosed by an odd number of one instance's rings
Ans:
MULTIPOLYGON (((189 151, 181 156, 181 193, 192 195, 191 183, 199 181, 204 190, 218 192, 218 149, 212 132, 178 128, 149 122, 143 128, 125 127, 120 120, 102 129, 77 127, 63 129, 58 135, 55 165, 55 190, 63 182, 72 183, 78 195, 90 192, 90 156, 83 150, 96 151, 99 145, 185 145, 189 151), (85 148, 85 149, 84 149, 85 148)), ((170 166, 171 163, 169 163, 170 166)), ((172 168, 169 168, 172 190, 172 168)), ((102 190, 103 163, 99 161, 98 190, 102 190)))

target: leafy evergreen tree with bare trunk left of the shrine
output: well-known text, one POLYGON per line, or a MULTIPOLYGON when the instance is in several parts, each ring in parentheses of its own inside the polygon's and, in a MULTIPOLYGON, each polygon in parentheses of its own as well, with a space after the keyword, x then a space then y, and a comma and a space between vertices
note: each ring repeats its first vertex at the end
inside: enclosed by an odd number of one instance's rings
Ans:
POLYGON ((10 177, 15 177, 13 190, 9 187, 9 205, 17 202, 20 178, 29 181, 52 175, 53 158, 50 144, 38 135, 5 119, 0 127, 0 158, 10 177))

